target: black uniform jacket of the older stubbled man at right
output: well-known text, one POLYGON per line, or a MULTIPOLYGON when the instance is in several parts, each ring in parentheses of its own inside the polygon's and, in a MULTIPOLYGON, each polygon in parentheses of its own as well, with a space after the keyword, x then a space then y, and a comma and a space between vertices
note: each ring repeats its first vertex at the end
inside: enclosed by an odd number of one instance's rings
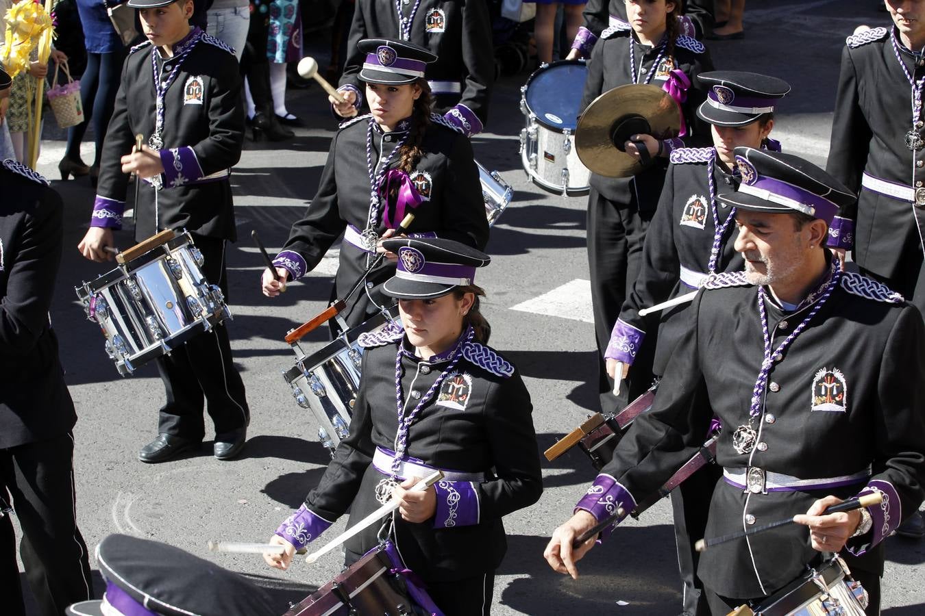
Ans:
MULTIPOLYGON (((767 493, 722 480, 710 503, 706 537, 806 513, 817 499, 848 498, 867 485, 884 491, 884 504, 869 509, 872 530, 848 547, 861 553, 878 544, 925 496, 925 329, 918 308, 882 301, 889 293, 869 278, 845 273, 774 362, 753 424, 759 443, 749 456, 735 452, 733 433, 748 422, 763 356, 758 289, 702 291, 688 310, 690 327, 674 347, 651 412, 636 419, 602 473, 636 500, 654 492, 703 444, 715 412, 722 421, 717 463, 724 469, 753 466, 814 479, 864 473, 870 465, 872 476, 840 488, 767 493), (827 392, 830 404, 822 404, 827 392), (699 396, 707 396, 709 405, 697 404, 699 396)), ((814 305, 784 313, 766 302, 772 348, 814 305)), ((697 574, 724 597, 758 598, 795 579, 816 554, 806 526, 784 525, 709 548, 697 574)))

